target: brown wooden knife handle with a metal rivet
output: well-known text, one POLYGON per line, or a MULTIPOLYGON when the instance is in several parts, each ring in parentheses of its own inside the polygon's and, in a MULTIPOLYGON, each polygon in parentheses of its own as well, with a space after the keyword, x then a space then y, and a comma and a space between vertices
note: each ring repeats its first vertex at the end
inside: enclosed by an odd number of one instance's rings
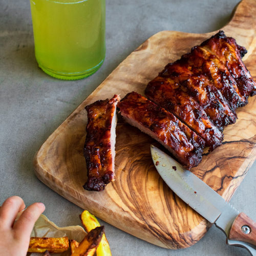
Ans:
POLYGON ((230 228, 228 239, 238 240, 256 246, 256 223, 241 212, 230 228))

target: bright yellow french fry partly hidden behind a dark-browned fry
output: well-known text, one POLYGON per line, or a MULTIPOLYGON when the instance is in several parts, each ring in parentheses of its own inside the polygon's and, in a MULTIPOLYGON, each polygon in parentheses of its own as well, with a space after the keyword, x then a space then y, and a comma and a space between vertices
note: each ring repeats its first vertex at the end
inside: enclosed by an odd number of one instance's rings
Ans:
MULTIPOLYGON (((84 210, 80 215, 80 220, 84 229, 87 232, 90 232, 92 229, 99 227, 100 224, 94 215, 90 214, 88 210, 84 210)), ((97 256, 112 256, 110 245, 108 240, 106 239, 105 233, 102 236, 100 244, 96 250, 97 256)))

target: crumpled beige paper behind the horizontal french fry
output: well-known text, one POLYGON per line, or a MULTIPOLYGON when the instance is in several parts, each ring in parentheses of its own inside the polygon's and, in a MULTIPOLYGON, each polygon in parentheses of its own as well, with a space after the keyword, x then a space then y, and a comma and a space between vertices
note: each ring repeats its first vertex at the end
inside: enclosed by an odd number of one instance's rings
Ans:
MULTIPOLYGON (((45 215, 39 217, 36 221, 31 237, 51 237, 60 238, 68 237, 69 239, 74 239, 77 242, 81 242, 86 236, 86 231, 81 226, 68 226, 68 227, 58 227, 52 221, 50 221, 45 215)), ((42 253, 30 253, 27 255, 31 256, 42 256, 42 253)), ((68 256, 70 255, 70 249, 62 253, 53 253, 54 256, 68 256)))

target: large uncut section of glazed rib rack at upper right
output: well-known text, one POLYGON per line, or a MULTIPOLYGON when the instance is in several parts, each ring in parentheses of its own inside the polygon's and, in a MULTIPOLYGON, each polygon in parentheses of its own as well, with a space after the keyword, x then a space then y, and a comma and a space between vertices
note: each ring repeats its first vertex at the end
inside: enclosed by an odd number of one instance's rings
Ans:
POLYGON ((241 57, 246 53, 223 31, 169 63, 150 81, 145 95, 205 140, 221 144, 224 126, 236 122, 236 109, 256 93, 241 57))

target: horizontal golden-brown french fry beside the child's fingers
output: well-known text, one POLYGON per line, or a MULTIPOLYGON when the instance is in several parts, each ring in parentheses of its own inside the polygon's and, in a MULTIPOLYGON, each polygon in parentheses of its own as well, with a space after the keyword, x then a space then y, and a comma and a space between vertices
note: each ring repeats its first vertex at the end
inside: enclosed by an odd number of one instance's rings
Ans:
POLYGON ((68 250, 69 239, 63 238, 30 238, 28 252, 49 252, 58 253, 68 250))

